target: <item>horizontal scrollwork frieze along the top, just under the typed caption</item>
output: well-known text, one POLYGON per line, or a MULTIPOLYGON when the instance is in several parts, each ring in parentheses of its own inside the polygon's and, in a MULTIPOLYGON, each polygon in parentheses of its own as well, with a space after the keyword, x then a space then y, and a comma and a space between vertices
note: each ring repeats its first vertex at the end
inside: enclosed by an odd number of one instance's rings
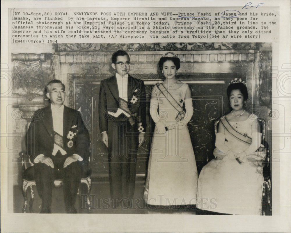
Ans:
POLYGON ((67 43, 53 44, 55 52, 81 51, 196 51, 196 50, 255 50, 259 43, 67 43))

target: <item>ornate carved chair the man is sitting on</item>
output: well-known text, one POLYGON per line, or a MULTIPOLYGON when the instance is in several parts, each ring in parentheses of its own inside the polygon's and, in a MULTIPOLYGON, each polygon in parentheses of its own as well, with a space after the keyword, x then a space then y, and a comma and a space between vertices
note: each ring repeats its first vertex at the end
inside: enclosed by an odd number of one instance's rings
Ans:
MULTIPOLYGON (((20 152, 19 156, 21 158, 21 170, 22 170, 22 195, 24 198, 24 204, 22 206, 22 213, 26 213, 26 207, 28 204, 28 199, 27 199, 27 193, 29 192, 30 199, 29 199, 29 212, 33 213, 33 201, 34 201, 34 189, 33 186, 36 186, 36 182, 34 179, 34 168, 33 168, 33 163, 30 161, 29 156, 24 154, 24 152, 20 152)), ((89 157, 89 162, 90 162, 90 157, 89 157)), ((85 185, 86 187, 86 200, 85 200, 85 205, 86 209, 88 211, 91 210, 91 201, 89 199, 89 195, 91 192, 91 168, 88 168, 86 165, 82 165, 82 178, 81 178, 81 184, 85 185)), ((63 180, 62 179, 56 179, 54 180, 54 187, 60 188, 63 186, 63 180)), ((78 194, 80 196, 80 201, 81 203, 83 202, 83 199, 81 198, 81 193, 80 193, 80 187, 78 190, 78 194)))

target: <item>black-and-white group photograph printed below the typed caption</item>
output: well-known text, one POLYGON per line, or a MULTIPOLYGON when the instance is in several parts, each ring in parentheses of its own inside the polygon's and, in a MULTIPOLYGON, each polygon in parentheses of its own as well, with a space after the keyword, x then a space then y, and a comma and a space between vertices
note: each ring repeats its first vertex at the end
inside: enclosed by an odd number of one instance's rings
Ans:
POLYGON ((272 43, 49 46, 11 56, 13 212, 272 215, 272 43))

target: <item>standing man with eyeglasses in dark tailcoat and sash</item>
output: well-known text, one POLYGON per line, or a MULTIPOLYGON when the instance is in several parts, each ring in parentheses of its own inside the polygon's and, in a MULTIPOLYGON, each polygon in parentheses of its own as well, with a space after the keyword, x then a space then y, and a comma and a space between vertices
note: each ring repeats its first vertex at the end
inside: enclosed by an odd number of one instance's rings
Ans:
POLYGON ((112 207, 121 202, 122 207, 129 207, 134 195, 136 152, 144 142, 145 85, 128 75, 127 52, 114 52, 111 61, 115 75, 100 84, 99 126, 108 148, 112 207))

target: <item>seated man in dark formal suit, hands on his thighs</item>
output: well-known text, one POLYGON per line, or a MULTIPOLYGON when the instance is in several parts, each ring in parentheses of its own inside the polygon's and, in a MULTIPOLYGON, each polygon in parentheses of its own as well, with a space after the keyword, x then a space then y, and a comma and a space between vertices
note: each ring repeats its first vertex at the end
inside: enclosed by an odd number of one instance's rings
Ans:
POLYGON ((34 112, 25 139, 42 199, 40 213, 51 212, 54 179, 63 179, 66 212, 77 213, 74 204, 81 163, 89 157, 89 133, 80 112, 63 104, 65 85, 60 80, 50 81, 46 92, 50 105, 34 112))

